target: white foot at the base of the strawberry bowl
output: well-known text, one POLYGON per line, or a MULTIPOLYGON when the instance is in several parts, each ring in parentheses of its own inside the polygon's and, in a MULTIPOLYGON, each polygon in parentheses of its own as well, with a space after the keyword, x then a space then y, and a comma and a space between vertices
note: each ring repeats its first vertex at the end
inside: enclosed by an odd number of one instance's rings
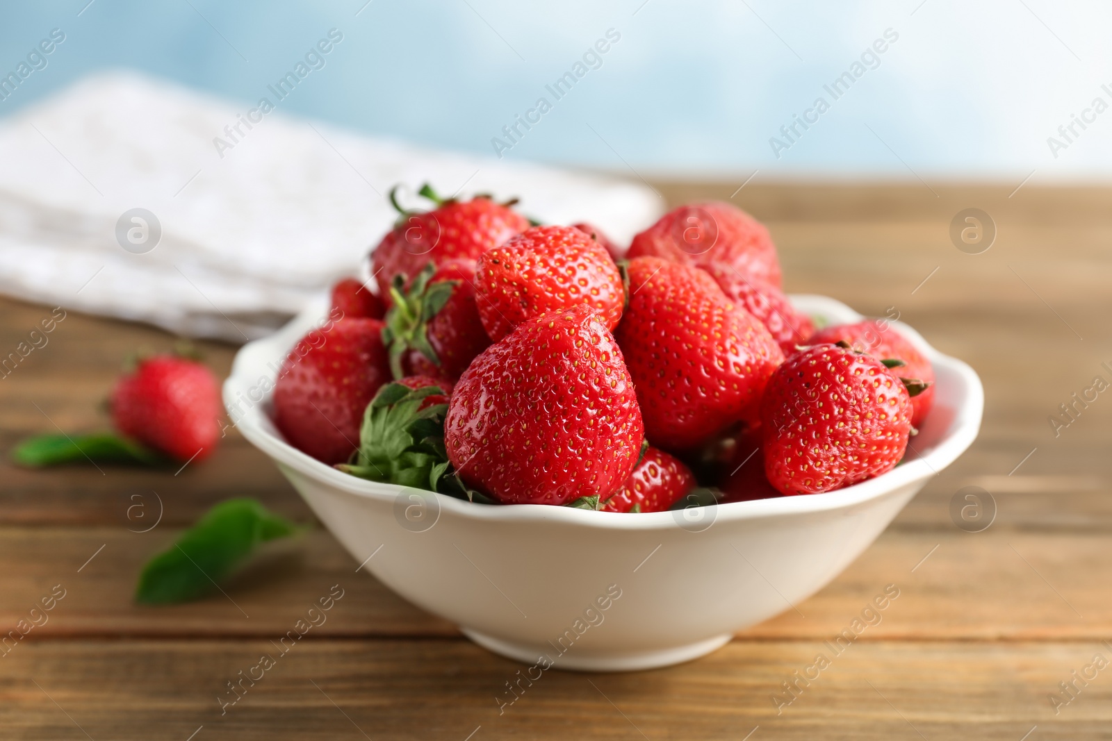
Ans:
POLYGON ((568 669, 572 671, 639 671, 642 669, 656 669, 658 667, 671 667, 683 663, 692 659, 698 659, 715 651, 733 638, 729 633, 715 635, 695 643, 677 645, 659 651, 628 651, 620 653, 589 653, 576 655, 574 647, 565 654, 557 654, 550 644, 542 643, 533 645, 529 643, 517 643, 504 641, 500 638, 492 638, 469 628, 460 628, 464 635, 471 639, 484 649, 497 653, 498 655, 534 664, 544 654, 553 661, 556 669, 568 669))

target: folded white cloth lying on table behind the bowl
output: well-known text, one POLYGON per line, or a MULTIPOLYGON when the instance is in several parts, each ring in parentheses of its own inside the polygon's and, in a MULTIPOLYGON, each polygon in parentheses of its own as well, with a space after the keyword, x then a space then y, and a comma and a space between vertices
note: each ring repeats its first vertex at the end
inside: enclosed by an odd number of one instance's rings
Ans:
POLYGON ((242 342, 359 273, 397 217, 397 183, 413 206, 424 182, 519 197, 524 213, 619 242, 663 207, 641 184, 356 136, 280 103, 248 129, 252 108, 113 72, 0 121, 0 292, 242 342), (117 237, 136 208, 161 229, 141 253, 117 237))

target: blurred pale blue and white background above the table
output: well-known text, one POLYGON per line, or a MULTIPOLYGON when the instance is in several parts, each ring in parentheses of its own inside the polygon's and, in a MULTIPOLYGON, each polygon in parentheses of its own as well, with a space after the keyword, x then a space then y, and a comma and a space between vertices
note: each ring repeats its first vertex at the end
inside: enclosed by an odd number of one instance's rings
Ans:
POLYGON ((1094 97, 1112 103, 1112 9, 1095 0, 87 1, 4 3, 0 73, 50 29, 67 40, 0 116, 109 67, 254 104, 336 27, 344 41, 284 112, 493 153, 502 127, 613 28, 602 68, 549 98, 507 158, 761 179, 1112 172, 1112 111, 1058 158, 1046 141, 1094 97), (887 28, 900 39, 880 67, 776 158, 770 138, 887 28))

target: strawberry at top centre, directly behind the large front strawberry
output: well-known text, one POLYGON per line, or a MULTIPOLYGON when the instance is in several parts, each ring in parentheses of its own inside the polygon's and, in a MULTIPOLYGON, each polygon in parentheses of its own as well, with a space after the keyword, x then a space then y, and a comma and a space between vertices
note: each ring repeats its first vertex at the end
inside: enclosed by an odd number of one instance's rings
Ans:
POLYGON ((613 330, 625 299, 609 254, 572 227, 534 227, 484 252, 475 296, 495 342, 527 319, 580 304, 594 308, 613 330))

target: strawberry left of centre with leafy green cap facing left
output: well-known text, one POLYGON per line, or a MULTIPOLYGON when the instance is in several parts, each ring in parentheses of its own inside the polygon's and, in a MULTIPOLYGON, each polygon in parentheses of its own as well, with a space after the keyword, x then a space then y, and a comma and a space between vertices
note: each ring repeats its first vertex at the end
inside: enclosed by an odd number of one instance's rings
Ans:
POLYGON ((395 378, 458 379, 490 344, 475 304, 475 266, 474 260, 448 260, 434 271, 428 263, 404 293, 401 279, 395 281, 383 338, 395 378))

